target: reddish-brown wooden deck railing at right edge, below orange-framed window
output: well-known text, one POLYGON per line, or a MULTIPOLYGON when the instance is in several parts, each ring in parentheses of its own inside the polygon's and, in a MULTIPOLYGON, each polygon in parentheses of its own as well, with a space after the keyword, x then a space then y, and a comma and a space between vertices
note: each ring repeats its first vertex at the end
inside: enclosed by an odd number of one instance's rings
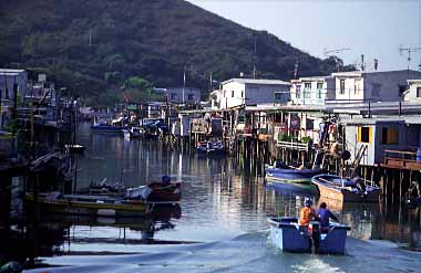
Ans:
POLYGON ((404 150, 384 150, 384 165, 399 169, 421 171, 421 161, 417 161, 417 153, 404 150))

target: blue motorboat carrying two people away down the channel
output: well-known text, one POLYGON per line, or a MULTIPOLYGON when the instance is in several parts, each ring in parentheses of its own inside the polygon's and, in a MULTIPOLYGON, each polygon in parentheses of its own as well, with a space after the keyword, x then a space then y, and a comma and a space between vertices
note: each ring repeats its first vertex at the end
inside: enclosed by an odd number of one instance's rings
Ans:
POLYGON ((298 218, 269 218, 270 239, 275 246, 287 252, 343 254, 349 225, 331 223, 328 233, 319 232, 319 222, 312 221, 308 230, 298 225, 298 218))

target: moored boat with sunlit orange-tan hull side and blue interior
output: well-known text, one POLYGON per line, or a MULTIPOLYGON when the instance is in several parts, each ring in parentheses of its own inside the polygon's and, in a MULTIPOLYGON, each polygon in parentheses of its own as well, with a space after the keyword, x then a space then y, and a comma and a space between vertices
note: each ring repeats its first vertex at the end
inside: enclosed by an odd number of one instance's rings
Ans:
POLYGON ((377 202, 380 187, 366 185, 362 179, 341 178, 335 175, 318 175, 311 181, 317 185, 321 197, 343 202, 377 202))

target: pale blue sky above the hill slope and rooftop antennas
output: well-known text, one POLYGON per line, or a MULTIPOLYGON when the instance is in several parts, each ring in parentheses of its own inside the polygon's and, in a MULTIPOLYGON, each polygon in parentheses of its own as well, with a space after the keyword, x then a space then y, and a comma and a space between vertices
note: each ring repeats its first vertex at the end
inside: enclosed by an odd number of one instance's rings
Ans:
MULTIPOLYGON (((346 63, 380 70, 408 66, 402 48, 421 48, 421 0, 188 0, 242 25, 266 30, 311 55, 348 48, 337 54, 346 63)), ((418 70, 421 51, 412 53, 418 70)))

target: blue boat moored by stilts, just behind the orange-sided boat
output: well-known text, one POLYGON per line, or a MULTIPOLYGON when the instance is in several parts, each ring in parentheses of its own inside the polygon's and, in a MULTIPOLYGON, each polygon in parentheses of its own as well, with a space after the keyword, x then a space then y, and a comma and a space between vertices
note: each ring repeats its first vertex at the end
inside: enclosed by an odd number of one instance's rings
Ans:
POLYGON ((314 176, 327 172, 322 169, 294 168, 281 161, 277 161, 275 166, 266 166, 267 180, 280 180, 295 183, 311 183, 314 176))

